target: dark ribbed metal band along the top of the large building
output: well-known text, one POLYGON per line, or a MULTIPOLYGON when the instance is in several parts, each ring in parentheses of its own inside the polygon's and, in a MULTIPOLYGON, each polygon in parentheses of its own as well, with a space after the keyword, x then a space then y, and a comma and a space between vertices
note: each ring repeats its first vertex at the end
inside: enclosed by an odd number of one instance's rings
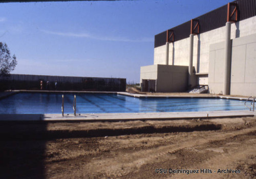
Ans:
MULTIPOLYGON (((256 15, 255 0, 237 0, 232 3, 238 4, 238 21, 244 20, 256 15)), ((227 21, 227 5, 210 11, 204 15, 196 17, 199 20, 200 33, 214 30, 226 25, 227 21)), ((174 31, 175 41, 182 40, 190 35, 190 20, 172 29, 174 31)), ((155 35, 155 48, 163 46, 166 43, 166 31, 155 35)))

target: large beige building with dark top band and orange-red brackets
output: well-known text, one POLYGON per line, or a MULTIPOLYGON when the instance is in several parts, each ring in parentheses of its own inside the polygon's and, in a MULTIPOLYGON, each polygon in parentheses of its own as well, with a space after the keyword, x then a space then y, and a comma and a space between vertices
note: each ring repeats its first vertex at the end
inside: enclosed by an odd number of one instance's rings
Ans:
POLYGON ((256 1, 238 0, 155 36, 144 91, 256 96, 256 1))

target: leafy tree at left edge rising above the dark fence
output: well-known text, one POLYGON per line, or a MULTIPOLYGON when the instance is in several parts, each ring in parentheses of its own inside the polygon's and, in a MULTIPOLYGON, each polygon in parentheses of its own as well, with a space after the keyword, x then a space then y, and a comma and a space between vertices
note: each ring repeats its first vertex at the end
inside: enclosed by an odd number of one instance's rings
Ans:
POLYGON ((17 60, 15 55, 11 57, 6 43, 0 42, 0 76, 8 75, 15 69, 17 60))

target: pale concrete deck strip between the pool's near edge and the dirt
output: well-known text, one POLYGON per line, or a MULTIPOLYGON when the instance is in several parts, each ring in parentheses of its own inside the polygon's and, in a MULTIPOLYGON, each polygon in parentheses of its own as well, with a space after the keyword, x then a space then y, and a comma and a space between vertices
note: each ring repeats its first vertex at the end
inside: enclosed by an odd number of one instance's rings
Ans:
POLYGON ((224 110, 172 113, 105 113, 105 114, 12 114, 0 115, 0 121, 132 121, 132 120, 177 120, 177 119, 210 119, 230 117, 253 117, 256 112, 249 110, 224 110))

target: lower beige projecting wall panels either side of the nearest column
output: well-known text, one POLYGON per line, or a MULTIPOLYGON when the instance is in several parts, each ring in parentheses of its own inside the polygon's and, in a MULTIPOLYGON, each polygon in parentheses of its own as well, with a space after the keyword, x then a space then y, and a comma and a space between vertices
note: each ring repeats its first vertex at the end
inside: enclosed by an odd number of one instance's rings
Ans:
MULTIPOLYGON (((212 44, 209 53, 210 93, 223 90, 224 42, 212 44)), ((256 96, 256 33, 232 40, 231 95, 256 96)))

